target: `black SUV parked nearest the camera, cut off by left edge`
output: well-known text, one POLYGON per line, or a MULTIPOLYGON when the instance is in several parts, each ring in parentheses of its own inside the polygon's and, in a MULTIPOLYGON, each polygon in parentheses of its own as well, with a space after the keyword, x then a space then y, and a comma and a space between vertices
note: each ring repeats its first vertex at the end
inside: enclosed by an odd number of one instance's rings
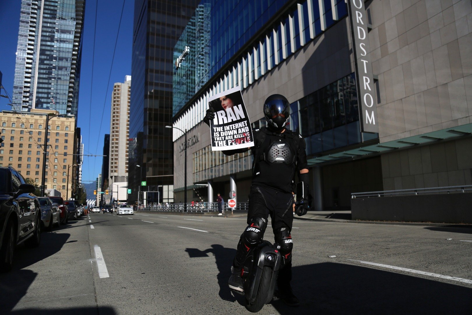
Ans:
POLYGON ((18 244, 37 247, 41 240, 41 206, 34 186, 12 167, 0 167, 0 272, 11 269, 18 244))

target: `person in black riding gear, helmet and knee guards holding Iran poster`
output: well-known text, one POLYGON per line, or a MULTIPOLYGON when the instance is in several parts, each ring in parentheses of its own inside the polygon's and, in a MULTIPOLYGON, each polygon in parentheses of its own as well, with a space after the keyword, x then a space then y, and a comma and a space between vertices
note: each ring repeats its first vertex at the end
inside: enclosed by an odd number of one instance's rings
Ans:
MULTIPOLYGON (((233 262, 233 272, 228 281, 231 289, 243 292, 241 269, 248 252, 259 245, 267 227, 270 215, 275 241, 280 246, 282 268, 278 272, 278 295, 287 304, 299 305, 292 292, 292 247, 293 194, 295 173, 303 181, 305 196, 308 196, 308 165, 305 141, 298 133, 286 128, 290 117, 287 98, 280 94, 270 95, 264 102, 264 116, 267 128, 253 129, 254 146, 236 150, 222 151, 226 155, 243 153, 251 149, 253 154, 253 179, 249 194, 248 226, 237 245, 233 262)), ((210 126, 215 118, 212 109, 207 110, 203 119, 210 126)), ((304 215, 308 203, 295 209, 297 215, 304 215)))

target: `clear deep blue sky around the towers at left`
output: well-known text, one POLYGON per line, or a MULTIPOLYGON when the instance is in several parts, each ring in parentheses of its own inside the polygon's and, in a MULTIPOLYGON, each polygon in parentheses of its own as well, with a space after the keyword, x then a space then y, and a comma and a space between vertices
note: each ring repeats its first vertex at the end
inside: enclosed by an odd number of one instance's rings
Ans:
MULTIPOLYGON (((123 0, 98 1, 96 28, 94 24, 97 0, 86 0, 85 2, 84 33, 82 34, 84 42, 77 118, 77 127, 81 128, 85 154, 102 154, 104 135, 110 133, 110 102, 113 84, 123 82, 126 75, 131 75, 134 1, 124 1, 125 8, 108 85, 123 0), (96 32, 95 56, 92 58, 94 31, 96 32)), ((13 94, 20 4, 20 0, 0 0, 0 71, 3 73, 2 85, 10 95, 13 94)), ((3 91, 2 94, 4 94, 3 91)), ((0 98, 0 110, 9 110, 8 103, 6 98, 0 98)), ((85 183, 98 177, 101 172, 101 162, 102 157, 84 157, 82 178, 85 183)))

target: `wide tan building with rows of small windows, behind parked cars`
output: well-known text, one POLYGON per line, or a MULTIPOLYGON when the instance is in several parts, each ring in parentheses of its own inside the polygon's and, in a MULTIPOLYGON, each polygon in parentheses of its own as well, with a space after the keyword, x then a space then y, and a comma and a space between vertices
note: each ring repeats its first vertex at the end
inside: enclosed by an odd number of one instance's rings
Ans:
POLYGON ((31 112, 0 113, 1 138, 0 166, 11 166, 26 179, 41 186, 46 116, 50 114, 48 158, 46 159, 45 189, 57 189, 63 198, 70 198, 74 181, 74 117, 52 117, 58 111, 32 110, 31 112), (52 114, 52 115, 51 115, 52 114), (69 179, 67 182, 67 171, 69 179))

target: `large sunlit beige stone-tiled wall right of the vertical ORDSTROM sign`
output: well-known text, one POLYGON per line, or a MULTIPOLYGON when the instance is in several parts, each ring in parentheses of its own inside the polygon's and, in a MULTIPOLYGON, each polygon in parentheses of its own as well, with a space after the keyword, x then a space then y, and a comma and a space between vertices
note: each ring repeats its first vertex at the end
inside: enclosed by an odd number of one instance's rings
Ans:
POLYGON ((372 0, 380 142, 472 122, 471 0, 372 0))

